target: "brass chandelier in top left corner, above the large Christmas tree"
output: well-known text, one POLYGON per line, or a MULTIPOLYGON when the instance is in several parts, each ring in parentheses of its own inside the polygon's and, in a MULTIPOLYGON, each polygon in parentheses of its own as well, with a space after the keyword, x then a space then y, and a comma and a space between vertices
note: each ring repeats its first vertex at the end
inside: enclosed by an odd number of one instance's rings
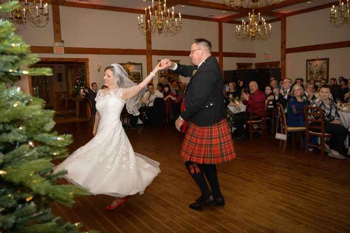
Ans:
MULTIPOLYGON (((11 2, 11 0, 9 0, 11 2)), ((0 0, 0 4, 1 4, 0 0)), ((20 1, 20 8, 0 15, 0 19, 8 20, 14 24, 27 27, 29 22, 33 27, 43 28, 49 22, 48 3, 43 4, 42 0, 34 0, 28 3, 27 0, 20 1)))

